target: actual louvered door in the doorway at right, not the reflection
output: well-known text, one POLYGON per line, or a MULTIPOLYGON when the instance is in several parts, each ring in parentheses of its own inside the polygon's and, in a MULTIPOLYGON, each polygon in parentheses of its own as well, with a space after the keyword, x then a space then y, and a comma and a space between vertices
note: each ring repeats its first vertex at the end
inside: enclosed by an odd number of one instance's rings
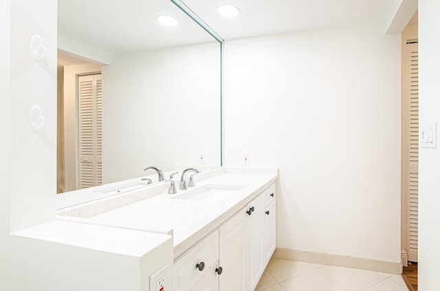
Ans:
POLYGON ((406 221, 408 261, 417 261, 419 200, 419 54, 417 40, 408 41, 409 75, 406 97, 406 221))

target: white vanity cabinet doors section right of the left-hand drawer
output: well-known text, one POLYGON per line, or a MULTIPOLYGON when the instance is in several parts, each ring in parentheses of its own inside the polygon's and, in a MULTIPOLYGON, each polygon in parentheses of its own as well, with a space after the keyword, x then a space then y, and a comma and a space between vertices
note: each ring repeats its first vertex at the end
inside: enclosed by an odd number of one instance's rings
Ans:
POLYGON ((275 215, 275 185, 271 185, 220 226, 219 290, 255 289, 275 250, 275 215))

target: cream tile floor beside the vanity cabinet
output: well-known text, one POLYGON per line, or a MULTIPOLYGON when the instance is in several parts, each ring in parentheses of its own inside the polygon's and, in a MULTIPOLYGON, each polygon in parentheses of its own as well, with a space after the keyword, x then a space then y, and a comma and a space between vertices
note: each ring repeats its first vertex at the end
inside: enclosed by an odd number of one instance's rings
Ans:
POLYGON ((408 291, 399 275, 271 259, 255 290, 408 291))

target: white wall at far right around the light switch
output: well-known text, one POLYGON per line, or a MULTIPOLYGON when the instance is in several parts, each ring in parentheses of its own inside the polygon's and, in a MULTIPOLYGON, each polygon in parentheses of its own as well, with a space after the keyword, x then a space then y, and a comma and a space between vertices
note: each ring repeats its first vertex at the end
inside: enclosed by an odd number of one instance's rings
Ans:
MULTIPOLYGON (((440 121, 439 14, 439 1, 419 0, 420 126, 440 121)), ((419 155, 419 290, 439 290, 440 152, 420 148, 419 155)))

